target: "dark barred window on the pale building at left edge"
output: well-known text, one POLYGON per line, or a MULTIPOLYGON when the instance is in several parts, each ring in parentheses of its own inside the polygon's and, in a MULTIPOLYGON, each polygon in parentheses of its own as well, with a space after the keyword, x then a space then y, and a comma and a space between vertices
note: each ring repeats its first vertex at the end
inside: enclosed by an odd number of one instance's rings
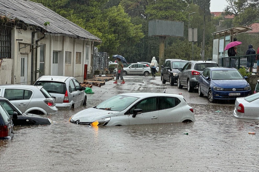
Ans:
POLYGON ((0 58, 11 58, 12 28, 0 27, 0 58))

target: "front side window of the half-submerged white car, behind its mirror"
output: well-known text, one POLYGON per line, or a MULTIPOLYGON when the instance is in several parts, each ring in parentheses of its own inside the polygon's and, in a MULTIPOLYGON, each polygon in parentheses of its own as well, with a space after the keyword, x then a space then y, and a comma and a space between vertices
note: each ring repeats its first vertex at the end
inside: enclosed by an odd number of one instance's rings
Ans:
POLYGON ((151 97, 138 102, 130 109, 129 113, 133 114, 134 109, 142 109, 142 113, 156 110, 156 97, 151 97))

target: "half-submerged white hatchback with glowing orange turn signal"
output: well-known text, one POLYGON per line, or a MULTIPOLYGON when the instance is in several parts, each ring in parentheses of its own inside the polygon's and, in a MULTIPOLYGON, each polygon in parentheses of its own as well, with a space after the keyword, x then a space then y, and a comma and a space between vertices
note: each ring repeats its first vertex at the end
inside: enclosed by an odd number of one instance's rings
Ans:
POLYGON ((123 93, 99 105, 81 110, 69 119, 92 126, 157 124, 195 121, 192 107, 182 95, 169 93, 123 93))

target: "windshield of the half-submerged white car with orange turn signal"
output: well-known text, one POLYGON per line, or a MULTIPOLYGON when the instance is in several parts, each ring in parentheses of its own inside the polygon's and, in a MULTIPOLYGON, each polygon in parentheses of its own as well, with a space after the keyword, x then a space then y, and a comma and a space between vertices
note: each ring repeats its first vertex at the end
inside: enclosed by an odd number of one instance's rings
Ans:
POLYGON ((103 101, 102 103, 97 105, 96 108, 104 110, 122 111, 137 99, 139 99, 139 97, 116 95, 103 101))

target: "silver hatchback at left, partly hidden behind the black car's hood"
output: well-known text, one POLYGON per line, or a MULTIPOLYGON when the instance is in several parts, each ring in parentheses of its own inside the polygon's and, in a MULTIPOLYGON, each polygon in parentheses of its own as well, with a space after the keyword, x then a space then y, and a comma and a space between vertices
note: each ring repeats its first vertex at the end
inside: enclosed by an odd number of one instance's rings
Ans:
POLYGON ((54 98, 42 87, 34 85, 0 85, 0 96, 11 101, 23 113, 57 114, 54 98))

